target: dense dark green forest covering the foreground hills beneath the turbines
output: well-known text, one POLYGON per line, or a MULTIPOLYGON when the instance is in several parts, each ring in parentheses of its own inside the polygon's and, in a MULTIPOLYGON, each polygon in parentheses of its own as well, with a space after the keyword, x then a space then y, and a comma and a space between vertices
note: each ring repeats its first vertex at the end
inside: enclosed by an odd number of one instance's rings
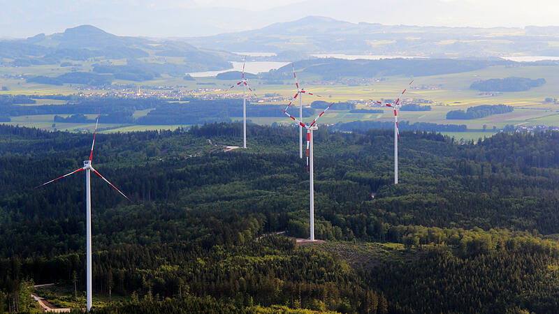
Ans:
MULTIPOLYGON (((241 124, 98 134, 96 170, 133 202, 92 179, 93 286, 119 296, 96 312, 553 313, 559 133, 400 133, 395 186, 393 130, 316 131, 311 246, 289 238, 309 236, 297 128, 251 125, 233 151, 241 124)), ((34 186, 91 140, 0 126, 0 310, 31 281, 85 289, 84 177, 34 186)))

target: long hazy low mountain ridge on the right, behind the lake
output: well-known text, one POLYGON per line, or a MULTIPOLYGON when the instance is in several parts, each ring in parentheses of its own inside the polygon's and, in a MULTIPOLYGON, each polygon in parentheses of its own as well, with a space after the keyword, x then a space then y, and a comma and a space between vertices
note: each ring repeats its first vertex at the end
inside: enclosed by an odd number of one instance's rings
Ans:
POLYGON ((246 52, 379 54, 421 57, 559 56, 557 27, 474 28, 387 26, 304 17, 252 31, 185 38, 206 49, 246 52))

